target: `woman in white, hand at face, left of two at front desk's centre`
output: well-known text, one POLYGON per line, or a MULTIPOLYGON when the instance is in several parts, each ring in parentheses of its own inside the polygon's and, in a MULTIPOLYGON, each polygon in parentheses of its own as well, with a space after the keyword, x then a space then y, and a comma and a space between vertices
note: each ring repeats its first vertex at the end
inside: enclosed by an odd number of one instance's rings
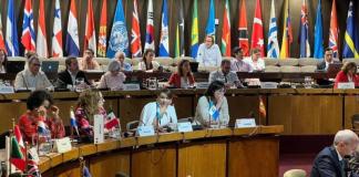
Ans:
POLYGON ((156 102, 147 103, 143 107, 140 125, 153 125, 155 128, 158 128, 158 131, 163 131, 163 127, 171 126, 171 124, 177 124, 177 115, 172 105, 172 96, 170 90, 162 90, 156 102))

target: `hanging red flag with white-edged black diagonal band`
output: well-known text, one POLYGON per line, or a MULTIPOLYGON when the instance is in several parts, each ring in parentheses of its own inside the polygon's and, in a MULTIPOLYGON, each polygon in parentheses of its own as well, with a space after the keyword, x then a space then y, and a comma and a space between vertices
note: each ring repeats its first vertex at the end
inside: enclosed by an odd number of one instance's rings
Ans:
POLYGON ((239 48, 242 48, 244 56, 249 56, 249 41, 248 41, 248 28, 247 28, 246 0, 242 0, 239 11, 240 11, 239 21, 238 21, 239 48))

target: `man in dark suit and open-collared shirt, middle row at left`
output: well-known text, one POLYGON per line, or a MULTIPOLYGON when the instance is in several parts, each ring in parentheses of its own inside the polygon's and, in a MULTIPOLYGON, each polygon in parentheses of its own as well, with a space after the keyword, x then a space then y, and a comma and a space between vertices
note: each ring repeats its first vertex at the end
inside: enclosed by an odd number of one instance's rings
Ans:
POLYGON ((65 60, 66 70, 58 74, 55 87, 65 88, 68 85, 76 85, 76 80, 83 80, 86 85, 91 85, 85 76, 85 73, 79 70, 78 59, 69 56, 65 60))

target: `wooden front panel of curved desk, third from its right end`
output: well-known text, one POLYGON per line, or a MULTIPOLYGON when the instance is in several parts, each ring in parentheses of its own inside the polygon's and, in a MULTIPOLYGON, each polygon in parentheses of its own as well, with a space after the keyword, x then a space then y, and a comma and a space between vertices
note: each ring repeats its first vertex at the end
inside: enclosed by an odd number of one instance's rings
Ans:
POLYGON ((132 154, 132 177, 175 177, 176 146, 140 149, 132 154))

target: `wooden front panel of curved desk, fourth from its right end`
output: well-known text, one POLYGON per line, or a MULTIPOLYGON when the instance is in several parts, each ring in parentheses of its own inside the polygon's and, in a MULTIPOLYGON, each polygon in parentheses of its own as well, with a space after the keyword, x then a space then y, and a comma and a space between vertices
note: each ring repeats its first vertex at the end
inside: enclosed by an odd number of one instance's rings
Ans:
POLYGON ((130 175, 130 152, 103 154, 90 158, 92 176, 115 176, 116 173, 130 175))

